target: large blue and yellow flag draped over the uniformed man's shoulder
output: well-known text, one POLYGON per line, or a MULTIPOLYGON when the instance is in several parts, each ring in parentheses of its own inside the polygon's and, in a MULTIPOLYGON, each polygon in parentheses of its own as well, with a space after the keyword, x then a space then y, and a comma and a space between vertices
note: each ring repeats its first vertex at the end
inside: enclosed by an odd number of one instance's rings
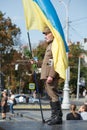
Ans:
POLYGON ((66 78, 68 60, 66 52, 68 47, 65 41, 63 29, 50 0, 22 0, 27 30, 37 29, 43 32, 48 26, 54 35, 52 53, 54 69, 60 77, 66 78))

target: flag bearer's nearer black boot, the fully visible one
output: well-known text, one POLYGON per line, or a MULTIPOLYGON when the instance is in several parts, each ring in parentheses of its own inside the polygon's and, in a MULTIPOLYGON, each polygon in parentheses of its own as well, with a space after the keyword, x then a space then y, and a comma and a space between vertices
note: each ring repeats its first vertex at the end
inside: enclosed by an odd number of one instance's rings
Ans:
POLYGON ((55 114, 51 121, 48 122, 48 125, 62 124, 62 110, 60 102, 52 102, 52 109, 55 111, 55 114))

